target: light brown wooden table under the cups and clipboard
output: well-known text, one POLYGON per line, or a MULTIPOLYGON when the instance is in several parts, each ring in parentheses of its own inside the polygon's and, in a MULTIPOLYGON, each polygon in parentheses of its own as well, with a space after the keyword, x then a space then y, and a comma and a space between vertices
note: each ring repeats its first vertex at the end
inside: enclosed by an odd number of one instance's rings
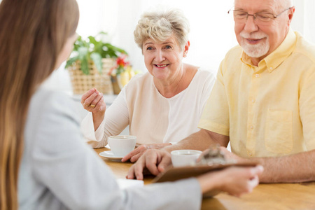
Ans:
MULTIPOLYGON (((95 149, 97 153, 108 148, 95 149)), ((102 158, 102 157, 101 157, 102 158)), ((113 162, 103 158, 117 178, 125 179, 131 162, 113 162)), ((151 183, 152 177, 145 177, 144 183, 151 183)), ((260 184, 252 193, 233 197, 220 193, 202 200, 202 209, 315 209, 315 182, 260 184)))

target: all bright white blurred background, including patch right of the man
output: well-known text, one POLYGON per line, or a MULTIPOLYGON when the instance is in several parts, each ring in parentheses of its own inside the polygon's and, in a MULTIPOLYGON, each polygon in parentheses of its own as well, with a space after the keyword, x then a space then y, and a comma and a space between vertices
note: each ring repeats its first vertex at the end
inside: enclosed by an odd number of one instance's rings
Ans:
MULTIPOLYGON (((77 33, 86 38, 99 31, 108 33, 106 41, 129 54, 132 68, 146 72, 141 49, 134 43, 133 31, 142 13, 157 6, 183 10, 190 21, 190 50, 184 62, 203 66, 216 73, 230 48, 237 45, 234 22, 228 10, 233 0, 77 0, 80 20, 77 33)), ((315 43, 315 1, 293 0, 295 16, 292 28, 315 43)), ((71 91, 69 73, 62 65, 45 83, 46 86, 71 91)))

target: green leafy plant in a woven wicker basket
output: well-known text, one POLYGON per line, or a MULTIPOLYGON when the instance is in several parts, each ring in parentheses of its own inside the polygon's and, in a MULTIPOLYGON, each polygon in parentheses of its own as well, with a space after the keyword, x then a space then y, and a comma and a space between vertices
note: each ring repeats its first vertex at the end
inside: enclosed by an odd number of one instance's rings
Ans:
POLYGON ((105 94, 113 93, 111 73, 117 68, 116 59, 121 55, 127 56, 127 52, 102 41, 105 35, 100 32, 86 40, 79 36, 74 43, 66 62, 74 94, 83 94, 92 87, 105 94))

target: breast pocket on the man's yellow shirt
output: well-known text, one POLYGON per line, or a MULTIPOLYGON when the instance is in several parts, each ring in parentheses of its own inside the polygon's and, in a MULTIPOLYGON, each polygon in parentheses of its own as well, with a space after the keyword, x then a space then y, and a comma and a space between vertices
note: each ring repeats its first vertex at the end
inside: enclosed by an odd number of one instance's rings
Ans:
POLYGON ((272 153, 290 153, 293 150, 293 112, 268 110, 265 147, 272 153))

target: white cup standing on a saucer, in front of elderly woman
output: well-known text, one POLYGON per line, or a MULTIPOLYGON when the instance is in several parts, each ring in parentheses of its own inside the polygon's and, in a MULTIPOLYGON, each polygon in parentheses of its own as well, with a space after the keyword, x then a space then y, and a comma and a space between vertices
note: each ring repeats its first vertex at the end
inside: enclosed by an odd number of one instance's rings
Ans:
POLYGON ((109 147, 116 157, 124 157, 134 150, 137 137, 130 135, 111 136, 108 139, 109 147))

